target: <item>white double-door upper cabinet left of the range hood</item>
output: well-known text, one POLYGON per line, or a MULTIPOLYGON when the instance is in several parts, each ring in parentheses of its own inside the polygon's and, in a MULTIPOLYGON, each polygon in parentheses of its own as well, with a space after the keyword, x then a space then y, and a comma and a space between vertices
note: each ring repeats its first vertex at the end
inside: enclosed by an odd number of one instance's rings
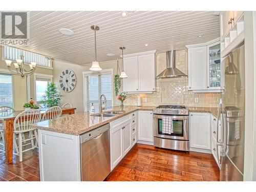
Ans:
POLYGON ((155 52, 143 52, 123 56, 123 68, 128 78, 123 79, 123 91, 152 93, 155 91, 155 52))

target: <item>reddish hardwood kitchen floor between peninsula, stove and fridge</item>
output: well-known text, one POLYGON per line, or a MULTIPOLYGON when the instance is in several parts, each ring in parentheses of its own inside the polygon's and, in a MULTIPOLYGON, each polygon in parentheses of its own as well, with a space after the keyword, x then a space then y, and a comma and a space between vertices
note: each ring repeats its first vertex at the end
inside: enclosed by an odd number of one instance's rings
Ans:
POLYGON ((136 144, 105 181, 219 181, 211 154, 136 144))

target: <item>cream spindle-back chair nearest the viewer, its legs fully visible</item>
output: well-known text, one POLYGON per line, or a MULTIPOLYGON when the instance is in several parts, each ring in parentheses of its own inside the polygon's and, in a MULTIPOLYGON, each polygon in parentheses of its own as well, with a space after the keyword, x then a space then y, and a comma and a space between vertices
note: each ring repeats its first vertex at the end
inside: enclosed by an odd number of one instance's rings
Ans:
POLYGON ((24 152, 27 152, 29 150, 33 150, 34 148, 36 148, 36 145, 34 145, 34 139, 38 144, 37 130, 31 129, 30 125, 39 122, 40 119, 41 119, 41 113, 39 110, 35 110, 35 109, 23 111, 22 113, 18 114, 17 117, 14 119, 13 143, 14 143, 14 149, 16 151, 16 153, 14 154, 19 156, 20 162, 23 161, 24 152), (27 139, 25 137, 25 133, 29 133, 29 136, 27 139), (27 143, 27 141, 30 141, 30 142, 27 143), (24 146, 27 146, 27 145, 31 145, 31 148, 23 149, 24 146))

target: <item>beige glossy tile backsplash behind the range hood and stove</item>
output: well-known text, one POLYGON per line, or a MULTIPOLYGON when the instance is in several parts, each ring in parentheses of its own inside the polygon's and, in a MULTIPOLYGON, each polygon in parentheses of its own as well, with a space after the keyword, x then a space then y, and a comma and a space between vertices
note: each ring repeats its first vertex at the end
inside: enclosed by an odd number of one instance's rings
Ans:
MULTIPOLYGON (((176 51, 176 67, 187 74, 187 52, 176 51)), ((157 56, 157 74, 166 68, 165 53, 157 56)), ((129 94, 125 105, 137 105, 137 97, 142 97, 142 105, 156 106, 160 104, 184 104, 194 107, 217 108, 222 93, 192 93, 188 91, 188 78, 170 78, 157 80, 157 91, 153 94, 129 94), (147 102, 143 102, 147 98, 147 102), (198 102, 195 102, 198 98, 198 102)))

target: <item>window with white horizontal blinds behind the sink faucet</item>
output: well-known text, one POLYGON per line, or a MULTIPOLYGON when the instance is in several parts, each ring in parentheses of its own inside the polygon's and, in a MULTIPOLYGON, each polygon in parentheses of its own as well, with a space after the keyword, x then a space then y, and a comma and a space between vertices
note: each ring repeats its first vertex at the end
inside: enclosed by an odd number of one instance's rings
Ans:
POLYGON ((106 97, 105 108, 112 107, 112 76, 112 70, 102 70, 100 73, 83 72, 85 111, 90 110, 92 103, 95 111, 98 111, 99 99, 102 94, 106 97))

